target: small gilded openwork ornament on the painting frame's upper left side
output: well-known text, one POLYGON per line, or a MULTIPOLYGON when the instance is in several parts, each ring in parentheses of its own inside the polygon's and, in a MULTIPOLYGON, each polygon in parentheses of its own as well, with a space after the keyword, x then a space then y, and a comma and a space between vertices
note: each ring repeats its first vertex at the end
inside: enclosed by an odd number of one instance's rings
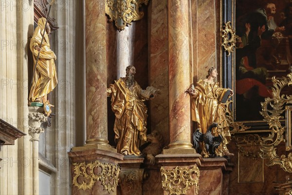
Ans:
POLYGON ((225 26, 222 28, 222 46, 226 50, 226 56, 229 56, 231 52, 234 52, 236 35, 235 30, 231 26, 231 21, 225 22, 225 26))

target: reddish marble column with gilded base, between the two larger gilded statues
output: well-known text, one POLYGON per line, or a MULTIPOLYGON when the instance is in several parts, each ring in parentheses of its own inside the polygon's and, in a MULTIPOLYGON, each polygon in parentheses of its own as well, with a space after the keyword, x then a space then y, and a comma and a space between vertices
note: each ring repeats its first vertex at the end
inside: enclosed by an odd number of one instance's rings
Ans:
POLYGON ((169 149, 164 154, 195 154, 191 144, 188 1, 168 0, 169 149))

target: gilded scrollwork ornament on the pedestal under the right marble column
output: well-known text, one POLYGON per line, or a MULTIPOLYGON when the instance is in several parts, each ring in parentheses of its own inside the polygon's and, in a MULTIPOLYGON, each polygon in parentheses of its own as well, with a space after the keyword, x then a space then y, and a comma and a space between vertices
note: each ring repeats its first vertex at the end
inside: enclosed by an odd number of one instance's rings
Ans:
POLYGON ((192 168, 176 167, 169 170, 161 167, 160 171, 162 186, 165 191, 169 191, 170 195, 185 195, 193 185, 195 185, 196 195, 198 195, 200 170, 197 165, 192 168))

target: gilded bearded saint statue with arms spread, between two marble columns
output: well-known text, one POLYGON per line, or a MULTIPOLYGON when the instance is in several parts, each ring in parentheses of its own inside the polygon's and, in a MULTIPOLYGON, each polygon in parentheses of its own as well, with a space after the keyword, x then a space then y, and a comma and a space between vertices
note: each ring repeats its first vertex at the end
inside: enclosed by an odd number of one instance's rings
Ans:
POLYGON ((107 89, 111 96, 111 108, 115 114, 114 133, 117 152, 123 155, 141 156, 142 142, 147 140, 147 107, 143 101, 155 98, 158 89, 142 90, 134 80, 136 68, 128 66, 126 77, 119 78, 107 89))

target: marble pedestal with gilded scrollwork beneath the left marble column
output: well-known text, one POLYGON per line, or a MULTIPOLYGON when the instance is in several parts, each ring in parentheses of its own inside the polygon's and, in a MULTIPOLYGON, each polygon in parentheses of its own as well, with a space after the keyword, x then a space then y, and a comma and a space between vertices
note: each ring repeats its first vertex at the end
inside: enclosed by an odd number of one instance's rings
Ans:
POLYGON ((91 149, 69 152, 73 195, 116 195, 123 155, 91 149))

